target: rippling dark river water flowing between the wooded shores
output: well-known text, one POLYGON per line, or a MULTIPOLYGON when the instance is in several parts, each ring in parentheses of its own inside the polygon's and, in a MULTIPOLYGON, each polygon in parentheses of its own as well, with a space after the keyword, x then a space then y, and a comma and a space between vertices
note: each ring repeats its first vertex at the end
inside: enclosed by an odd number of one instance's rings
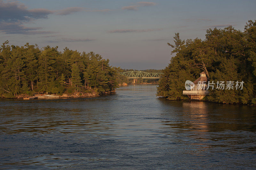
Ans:
POLYGON ((0 168, 255 169, 256 108, 166 101, 155 85, 0 100, 0 168))

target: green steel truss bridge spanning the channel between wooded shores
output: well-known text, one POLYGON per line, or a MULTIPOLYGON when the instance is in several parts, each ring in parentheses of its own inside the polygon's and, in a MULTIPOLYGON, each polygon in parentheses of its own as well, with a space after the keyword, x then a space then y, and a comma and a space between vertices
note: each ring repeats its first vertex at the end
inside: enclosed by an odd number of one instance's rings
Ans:
POLYGON ((119 73, 122 75, 125 75, 129 79, 137 79, 137 78, 143 78, 143 79, 160 79, 160 75, 163 73, 147 73, 143 71, 128 71, 119 73))

